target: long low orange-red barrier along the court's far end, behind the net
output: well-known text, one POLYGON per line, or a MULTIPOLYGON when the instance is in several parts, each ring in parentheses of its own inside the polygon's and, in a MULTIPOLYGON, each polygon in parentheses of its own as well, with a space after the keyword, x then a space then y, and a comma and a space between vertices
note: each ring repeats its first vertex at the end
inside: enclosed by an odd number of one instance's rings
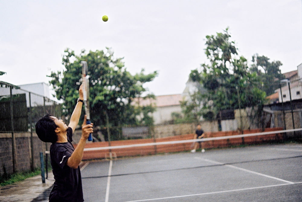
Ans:
POLYGON ((108 142, 89 143, 85 146, 83 160, 190 151, 195 142, 203 142, 204 149, 280 143, 288 140, 288 136, 297 139, 301 136, 301 131, 302 128, 233 135, 224 133, 225 136, 205 133, 206 137, 202 139, 193 139, 194 134, 187 134, 158 139, 112 141, 110 146, 108 142))

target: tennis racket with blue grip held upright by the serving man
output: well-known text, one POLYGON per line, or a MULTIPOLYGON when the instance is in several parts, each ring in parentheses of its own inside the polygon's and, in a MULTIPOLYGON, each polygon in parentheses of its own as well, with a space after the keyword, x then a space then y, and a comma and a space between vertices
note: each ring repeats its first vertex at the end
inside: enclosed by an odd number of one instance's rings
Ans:
MULTIPOLYGON (((89 79, 88 79, 88 65, 86 61, 81 61, 82 65, 82 83, 83 83, 83 97, 84 107, 86 114, 86 124, 90 124, 90 111, 89 111, 89 79)), ((92 141, 92 135, 89 134, 88 141, 92 141)))

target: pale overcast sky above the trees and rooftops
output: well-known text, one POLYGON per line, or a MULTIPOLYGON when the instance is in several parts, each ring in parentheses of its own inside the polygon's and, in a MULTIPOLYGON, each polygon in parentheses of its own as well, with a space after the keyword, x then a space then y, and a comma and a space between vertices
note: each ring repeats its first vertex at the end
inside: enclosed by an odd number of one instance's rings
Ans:
MULTIPOLYGON (((114 51, 131 74, 159 75, 146 87, 181 94, 205 63, 205 37, 229 27, 239 55, 281 61, 281 72, 302 63, 301 0, 0 0, 0 81, 45 82, 62 71, 66 48, 114 51), (102 16, 108 21, 103 22, 102 16)), ((89 66, 89 64, 88 64, 89 66)))

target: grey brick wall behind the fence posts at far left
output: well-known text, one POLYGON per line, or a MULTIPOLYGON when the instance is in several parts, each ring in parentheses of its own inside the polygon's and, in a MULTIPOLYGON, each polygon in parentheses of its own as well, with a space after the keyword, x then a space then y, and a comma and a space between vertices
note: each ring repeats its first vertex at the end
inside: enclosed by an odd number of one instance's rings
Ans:
MULTIPOLYGON (((14 133, 16 143, 16 171, 31 170, 31 137, 30 133, 14 133)), ((34 168, 40 167, 40 152, 45 151, 46 144, 36 134, 33 134, 34 168)), ((49 149, 50 143, 48 143, 49 149)), ((6 172, 13 172, 11 133, 0 134, 0 173, 3 174, 3 166, 6 172)))

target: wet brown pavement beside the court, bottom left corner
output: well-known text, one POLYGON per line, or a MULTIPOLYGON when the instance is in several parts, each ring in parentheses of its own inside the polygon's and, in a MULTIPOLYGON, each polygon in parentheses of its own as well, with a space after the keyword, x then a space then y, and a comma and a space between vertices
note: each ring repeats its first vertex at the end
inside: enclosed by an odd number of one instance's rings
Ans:
POLYGON ((42 183, 41 175, 37 175, 24 181, 0 187, 0 202, 48 202, 53 183, 53 174, 48 172, 48 179, 45 179, 45 183, 42 183))

